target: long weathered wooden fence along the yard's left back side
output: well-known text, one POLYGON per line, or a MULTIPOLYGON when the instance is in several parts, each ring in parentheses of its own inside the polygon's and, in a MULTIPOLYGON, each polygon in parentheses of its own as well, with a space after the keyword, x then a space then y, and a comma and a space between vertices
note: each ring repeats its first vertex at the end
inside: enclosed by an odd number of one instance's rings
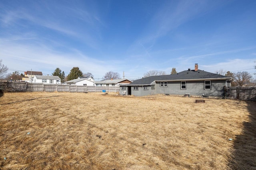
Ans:
POLYGON ((0 82, 0 90, 6 92, 119 92, 119 86, 74 86, 28 82, 0 82))

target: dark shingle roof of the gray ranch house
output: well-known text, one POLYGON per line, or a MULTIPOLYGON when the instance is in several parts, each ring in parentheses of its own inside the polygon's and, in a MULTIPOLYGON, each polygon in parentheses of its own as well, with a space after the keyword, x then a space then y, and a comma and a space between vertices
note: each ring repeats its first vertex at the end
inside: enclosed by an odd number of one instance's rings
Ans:
POLYGON ((211 72, 206 72, 204 70, 185 70, 178 72, 177 74, 161 75, 161 76, 150 76, 135 80, 129 85, 145 85, 151 84, 154 81, 172 81, 172 80, 198 80, 198 79, 231 79, 231 77, 222 76, 220 74, 214 74, 211 72))

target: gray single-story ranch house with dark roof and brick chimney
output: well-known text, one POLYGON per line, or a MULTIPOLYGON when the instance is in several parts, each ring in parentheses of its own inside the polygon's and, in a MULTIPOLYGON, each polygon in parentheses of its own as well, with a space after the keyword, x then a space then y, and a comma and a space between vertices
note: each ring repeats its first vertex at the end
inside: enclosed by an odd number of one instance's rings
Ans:
POLYGON ((222 76, 198 70, 185 70, 177 74, 150 76, 135 80, 126 85, 120 85, 120 94, 147 96, 156 94, 171 94, 188 96, 220 97, 224 94, 224 87, 231 85, 231 77, 222 76))

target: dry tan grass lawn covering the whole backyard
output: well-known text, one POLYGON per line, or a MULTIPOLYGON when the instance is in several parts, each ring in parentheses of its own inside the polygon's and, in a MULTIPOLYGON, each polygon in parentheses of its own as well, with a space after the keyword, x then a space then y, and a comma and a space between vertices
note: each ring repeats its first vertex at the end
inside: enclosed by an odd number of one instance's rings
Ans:
POLYGON ((256 103, 195 99, 5 93, 0 169, 254 169, 256 103))

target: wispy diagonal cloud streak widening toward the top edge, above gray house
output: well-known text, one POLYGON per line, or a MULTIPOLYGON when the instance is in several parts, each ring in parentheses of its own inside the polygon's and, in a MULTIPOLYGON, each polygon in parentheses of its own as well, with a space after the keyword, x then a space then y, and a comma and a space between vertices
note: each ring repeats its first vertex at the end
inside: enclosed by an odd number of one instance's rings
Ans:
MULTIPOLYGON (((204 15, 216 6, 217 3, 205 1, 167 1, 154 14, 144 31, 142 31, 142 35, 134 41, 128 51, 143 53, 141 47, 151 49, 159 38, 168 35, 171 31, 196 16, 204 15)), ((144 51, 144 53, 150 54, 149 51, 144 51)))

